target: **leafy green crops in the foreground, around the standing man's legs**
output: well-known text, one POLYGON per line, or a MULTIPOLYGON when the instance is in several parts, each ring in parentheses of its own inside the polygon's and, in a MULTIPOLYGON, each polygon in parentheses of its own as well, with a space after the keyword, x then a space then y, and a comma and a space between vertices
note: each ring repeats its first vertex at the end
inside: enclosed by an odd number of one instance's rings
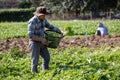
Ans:
POLYGON ((30 72, 30 54, 19 49, 0 53, 1 80, 119 80, 120 47, 50 49, 50 70, 30 72))

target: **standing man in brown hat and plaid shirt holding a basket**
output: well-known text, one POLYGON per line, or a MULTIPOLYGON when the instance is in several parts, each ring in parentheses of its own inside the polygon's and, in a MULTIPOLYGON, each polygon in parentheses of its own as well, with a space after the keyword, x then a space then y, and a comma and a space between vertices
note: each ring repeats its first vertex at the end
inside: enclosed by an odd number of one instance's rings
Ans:
POLYGON ((48 14, 45 7, 37 7, 33 14, 34 16, 28 22, 28 36, 31 51, 31 72, 36 73, 39 55, 42 57, 42 70, 49 69, 50 54, 47 49, 48 42, 44 38, 45 28, 62 32, 45 19, 45 15, 48 14))

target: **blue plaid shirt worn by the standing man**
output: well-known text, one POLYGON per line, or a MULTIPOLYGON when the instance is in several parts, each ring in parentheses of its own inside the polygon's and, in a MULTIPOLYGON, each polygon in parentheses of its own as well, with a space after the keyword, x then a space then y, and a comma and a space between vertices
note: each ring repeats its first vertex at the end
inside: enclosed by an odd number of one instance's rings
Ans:
POLYGON ((45 27, 57 31, 58 28, 49 24, 46 19, 39 20, 37 16, 33 16, 28 22, 28 36, 32 38, 33 36, 38 36, 44 38, 45 27))

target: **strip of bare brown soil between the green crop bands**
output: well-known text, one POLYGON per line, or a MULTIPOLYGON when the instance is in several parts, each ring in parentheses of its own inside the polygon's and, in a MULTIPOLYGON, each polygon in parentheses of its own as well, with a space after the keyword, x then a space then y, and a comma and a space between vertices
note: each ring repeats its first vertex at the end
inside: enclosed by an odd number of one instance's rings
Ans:
MULTIPOLYGON (((11 48, 19 48, 21 51, 29 52, 28 38, 14 38, 0 41, 0 52, 8 51, 11 48)), ((57 49, 64 49, 69 47, 99 47, 99 46, 120 46, 120 34, 109 35, 105 37, 91 36, 91 37, 74 37, 63 38, 57 49)))

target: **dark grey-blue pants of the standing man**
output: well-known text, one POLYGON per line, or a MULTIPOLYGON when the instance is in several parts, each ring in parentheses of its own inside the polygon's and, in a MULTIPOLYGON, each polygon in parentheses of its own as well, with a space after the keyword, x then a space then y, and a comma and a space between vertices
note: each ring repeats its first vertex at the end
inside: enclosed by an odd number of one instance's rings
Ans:
POLYGON ((39 55, 42 57, 42 70, 49 69, 50 54, 46 46, 40 42, 30 42, 31 71, 37 72, 39 55))

